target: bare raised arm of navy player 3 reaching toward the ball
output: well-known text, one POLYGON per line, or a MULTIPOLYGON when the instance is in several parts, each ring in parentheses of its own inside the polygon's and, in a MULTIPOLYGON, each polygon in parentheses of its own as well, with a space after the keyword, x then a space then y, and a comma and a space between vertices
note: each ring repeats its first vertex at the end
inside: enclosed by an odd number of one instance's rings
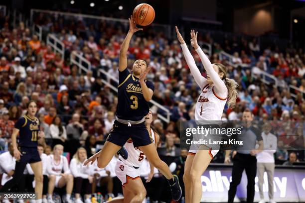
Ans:
POLYGON ((136 26, 136 21, 134 20, 133 16, 131 15, 129 19, 129 31, 121 45, 120 50, 120 58, 119 58, 119 71, 124 71, 127 68, 127 51, 129 48, 129 43, 133 34, 139 30, 143 30, 136 26))

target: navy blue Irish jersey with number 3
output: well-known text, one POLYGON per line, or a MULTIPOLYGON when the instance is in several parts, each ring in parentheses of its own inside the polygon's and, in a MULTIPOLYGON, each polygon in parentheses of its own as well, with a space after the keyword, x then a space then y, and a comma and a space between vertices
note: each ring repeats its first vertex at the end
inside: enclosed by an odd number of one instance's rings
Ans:
MULTIPOLYGON (((152 82, 146 81, 149 89, 154 91, 152 82)), ((118 106, 116 115, 124 120, 141 120, 149 113, 149 102, 144 99, 139 78, 127 69, 119 71, 118 106)))

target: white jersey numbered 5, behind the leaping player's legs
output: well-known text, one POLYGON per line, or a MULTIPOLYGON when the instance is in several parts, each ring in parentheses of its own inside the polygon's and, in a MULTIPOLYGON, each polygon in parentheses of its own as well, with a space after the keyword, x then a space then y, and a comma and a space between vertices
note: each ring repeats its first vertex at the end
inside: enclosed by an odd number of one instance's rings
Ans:
MULTIPOLYGON (((151 129, 151 140, 152 143, 155 143, 155 134, 151 129)), ((125 149, 128 152, 128 158, 125 160, 120 156, 120 160, 128 166, 140 167, 142 162, 145 160, 145 154, 139 149, 139 147, 134 147, 133 141, 127 141, 124 145, 125 149)))

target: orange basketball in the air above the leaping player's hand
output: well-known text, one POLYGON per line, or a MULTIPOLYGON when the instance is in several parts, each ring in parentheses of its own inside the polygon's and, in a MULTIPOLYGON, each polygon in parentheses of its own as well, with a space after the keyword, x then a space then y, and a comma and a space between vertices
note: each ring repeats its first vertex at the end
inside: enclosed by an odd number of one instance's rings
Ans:
POLYGON ((154 9, 150 4, 141 3, 137 5, 133 11, 133 17, 136 23, 142 26, 147 26, 154 20, 154 9))

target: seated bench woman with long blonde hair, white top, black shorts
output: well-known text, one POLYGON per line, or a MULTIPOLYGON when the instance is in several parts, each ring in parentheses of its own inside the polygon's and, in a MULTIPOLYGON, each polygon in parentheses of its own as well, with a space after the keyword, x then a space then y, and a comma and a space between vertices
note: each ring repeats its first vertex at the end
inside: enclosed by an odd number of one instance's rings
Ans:
POLYGON ((93 176, 91 176, 92 165, 84 166, 84 162, 87 159, 86 150, 82 147, 78 148, 76 154, 70 163, 70 171, 74 177, 74 193, 75 203, 83 203, 80 198, 82 189, 85 193, 85 203, 91 203, 90 197, 92 193, 93 176))

